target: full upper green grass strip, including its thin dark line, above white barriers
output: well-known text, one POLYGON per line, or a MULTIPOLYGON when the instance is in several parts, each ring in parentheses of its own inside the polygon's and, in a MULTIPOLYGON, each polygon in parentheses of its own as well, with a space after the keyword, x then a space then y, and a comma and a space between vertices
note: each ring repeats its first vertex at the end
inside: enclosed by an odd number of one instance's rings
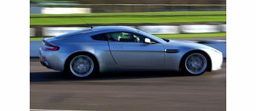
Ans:
POLYGON ((71 24, 142 24, 142 23, 184 23, 184 22, 226 22, 226 11, 195 12, 133 12, 94 14, 30 14, 30 25, 71 24), (93 15, 92 17, 83 17, 93 15), (95 17, 98 15, 101 17, 95 17), (126 16, 123 16, 126 15, 126 16), (149 15, 149 16, 139 16, 149 15), (154 15, 154 16, 153 16, 154 15), (157 15, 157 16, 156 16, 157 15), (182 16, 167 16, 182 15, 182 16), (193 16, 192 16, 193 15, 193 16), (58 16, 58 17, 56 17, 58 16), (82 16, 82 17, 80 17, 82 16), (38 18, 39 17, 39 18, 38 18))

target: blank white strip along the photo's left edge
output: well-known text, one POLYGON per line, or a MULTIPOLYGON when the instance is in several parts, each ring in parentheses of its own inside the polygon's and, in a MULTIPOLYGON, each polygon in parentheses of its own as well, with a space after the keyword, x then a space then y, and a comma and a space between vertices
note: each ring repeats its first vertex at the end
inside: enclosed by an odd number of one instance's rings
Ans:
POLYGON ((29 1, 1 4, 0 110, 29 110, 29 1))

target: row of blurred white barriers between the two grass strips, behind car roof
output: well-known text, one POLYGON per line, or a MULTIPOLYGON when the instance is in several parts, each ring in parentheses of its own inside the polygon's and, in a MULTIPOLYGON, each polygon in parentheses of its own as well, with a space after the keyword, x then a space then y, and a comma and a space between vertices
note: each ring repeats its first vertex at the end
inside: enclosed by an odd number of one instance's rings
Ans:
MULTIPOLYGON (((99 27, 99 26, 93 26, 99 27)), ((180 34, 180 33, 209 33, 226 32, 226 24, 220 25, 142 25, 129 26, 150 34, 180 34)), ((88 27, 43 27, 42 36, 52 37, 68 32, 83 30, 88 27)), ((36 28, 30 28, 30 37, 36 37, 36 28)))

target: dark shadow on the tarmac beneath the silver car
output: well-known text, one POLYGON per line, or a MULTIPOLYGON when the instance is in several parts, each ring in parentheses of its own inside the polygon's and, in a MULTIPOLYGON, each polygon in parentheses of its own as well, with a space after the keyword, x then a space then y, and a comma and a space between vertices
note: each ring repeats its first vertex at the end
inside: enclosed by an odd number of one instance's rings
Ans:
POLYGON ((157 77, 182 77, 185 74, 177 72, 132 72, 132 73, 100 73, 86 79, 77 79, 59 71, 32 72, 30 82, 38 81, 79 81, 79 80, 120 80, 120 79, 145 79, 157 77))

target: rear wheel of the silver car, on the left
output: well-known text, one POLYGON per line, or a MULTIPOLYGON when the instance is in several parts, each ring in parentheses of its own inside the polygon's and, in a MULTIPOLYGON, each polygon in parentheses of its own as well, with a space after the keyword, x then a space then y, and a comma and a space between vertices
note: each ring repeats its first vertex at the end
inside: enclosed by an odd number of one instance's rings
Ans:
POLYGON ((93 57, 80 54, 68 60, 67 71, 73 77, 87 78, 93 76, 97 66, 93 57))

